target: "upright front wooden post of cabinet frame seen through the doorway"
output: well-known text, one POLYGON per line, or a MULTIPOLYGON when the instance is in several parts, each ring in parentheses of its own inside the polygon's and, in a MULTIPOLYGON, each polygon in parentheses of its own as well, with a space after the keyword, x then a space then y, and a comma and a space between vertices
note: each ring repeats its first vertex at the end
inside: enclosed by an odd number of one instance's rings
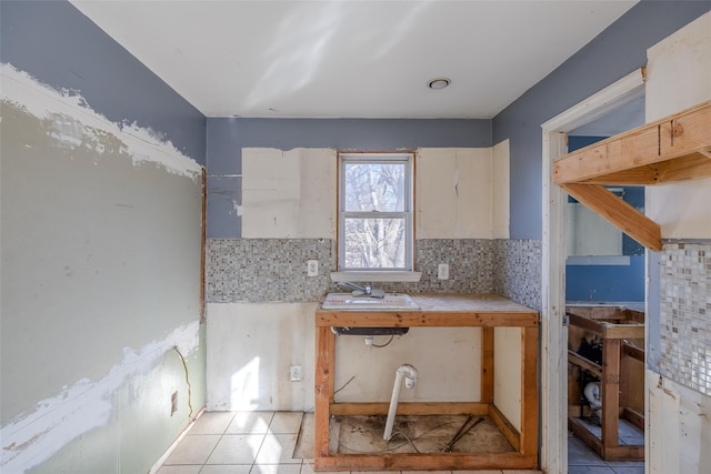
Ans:
POLYGON ((615 447, 619 443, 620 420, 620 340, 605 339, 602 344, 602 445, 615 447))

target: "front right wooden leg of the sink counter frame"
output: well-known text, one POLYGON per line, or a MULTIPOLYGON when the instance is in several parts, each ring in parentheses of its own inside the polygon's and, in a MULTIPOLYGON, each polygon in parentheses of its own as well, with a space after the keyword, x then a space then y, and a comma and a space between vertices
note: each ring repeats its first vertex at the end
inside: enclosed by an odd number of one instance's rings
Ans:
POLYGON ((521 329, 521 454, 538 454, 538 327, 521 329))

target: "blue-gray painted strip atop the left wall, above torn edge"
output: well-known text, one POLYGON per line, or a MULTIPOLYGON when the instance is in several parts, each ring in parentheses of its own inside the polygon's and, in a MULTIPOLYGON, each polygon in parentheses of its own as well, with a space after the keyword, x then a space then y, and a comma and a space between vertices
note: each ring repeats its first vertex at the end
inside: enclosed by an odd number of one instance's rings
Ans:
POLYGON ((68 1, 0 3, 0 61, 206 164, 204 115, 68 1))

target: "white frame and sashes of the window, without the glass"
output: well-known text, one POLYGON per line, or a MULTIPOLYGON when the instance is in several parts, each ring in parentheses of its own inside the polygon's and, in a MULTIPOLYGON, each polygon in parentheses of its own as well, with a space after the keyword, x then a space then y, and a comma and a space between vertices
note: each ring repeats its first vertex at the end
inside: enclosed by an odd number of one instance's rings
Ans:
MULTIPOLYGON (((338 182, 338 269, 340 272, 356 273, 392 273, 412 272, 414 270, 414 152, 339 152, 339 182, 338 182), (346 211, 346 164, 353 162, 370 163, 403 163, 404 175, 404 209, 399 212, 347 212, 346 211), (346 219, 347 218, 398 218, 405 222, 405 255, 404 268, 370 268, 353 269, 344 266, 346 259, 346 219)), ((372 276, 370 276, 372 278, 372 276)))

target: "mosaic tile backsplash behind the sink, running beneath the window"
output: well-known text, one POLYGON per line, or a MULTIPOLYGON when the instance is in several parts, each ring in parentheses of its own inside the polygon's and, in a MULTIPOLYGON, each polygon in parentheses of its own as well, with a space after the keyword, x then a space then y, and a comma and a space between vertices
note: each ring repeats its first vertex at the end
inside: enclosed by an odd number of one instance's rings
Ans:
MULTIPOLYGON (((417 241, 418 283, 378 283, 407 293, 498 293, 540 309, 540 241, 434 239, 417 241), (449 280, 437 265, 448 263, 449 280)), ((209 239, 206 300, 308 302, 343 291, 329 278, 336 242, 324 239, 209 239), (307 260, 319 261, 319 276, 307 276, 307 260)), ((367 282, 361 282, 367 283, 367 282)))

